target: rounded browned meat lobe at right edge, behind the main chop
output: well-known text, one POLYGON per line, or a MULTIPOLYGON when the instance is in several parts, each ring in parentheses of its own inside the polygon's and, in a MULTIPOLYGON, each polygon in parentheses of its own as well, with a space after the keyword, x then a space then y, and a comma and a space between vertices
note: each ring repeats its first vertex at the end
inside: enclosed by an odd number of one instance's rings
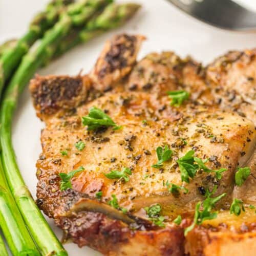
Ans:
POLYGON ((256 123, 256 50, 232 51, 212 62, 206 82, 220 108, 256 123))

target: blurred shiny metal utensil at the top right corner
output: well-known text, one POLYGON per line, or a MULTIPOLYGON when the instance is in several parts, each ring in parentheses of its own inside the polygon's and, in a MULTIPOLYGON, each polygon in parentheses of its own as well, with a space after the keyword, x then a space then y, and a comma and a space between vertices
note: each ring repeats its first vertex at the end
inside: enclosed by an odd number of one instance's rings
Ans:
POLYGON ((182 11, 215 27, 256 30, 256 13, 231 0, 168 0, 182 11))

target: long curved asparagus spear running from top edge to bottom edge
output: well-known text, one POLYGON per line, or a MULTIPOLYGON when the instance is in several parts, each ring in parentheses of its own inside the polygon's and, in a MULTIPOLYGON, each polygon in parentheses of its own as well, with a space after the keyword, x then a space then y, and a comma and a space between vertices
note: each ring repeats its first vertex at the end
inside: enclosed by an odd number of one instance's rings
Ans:
MULTIPOLYGON (((89 1, 86 2, 80 10, 81 16, 79 20, 86 22, 93 14, 108 3, 109 1, 94 0, 91 1, 89 5, 89 1)), ((57 22, 52 29, 47 31, 36 49, 32 49, 32 51, 24 56, 7 87, 0 111, 0 140, 3 150, 2 160, 5 175, 25 223, 43 255, 51 253, 54 253, 55 255, 67 255, 67 253, 55 237, 55 234, 50 229, 45 218, 42 217, 40 210, 35 205, 34 200, 19 173, 11 142, 11 119, 18 94, 26 86, 36 69, 44 63, 44 60, 46 58, 51 58, 56 44, 72 29, 73 17, 75 16, 76 20, 78 20, 78 15, 79 13, 75 13, 74 15, 69 14, 68 12, 63 13, 59 22, 57 22)))

